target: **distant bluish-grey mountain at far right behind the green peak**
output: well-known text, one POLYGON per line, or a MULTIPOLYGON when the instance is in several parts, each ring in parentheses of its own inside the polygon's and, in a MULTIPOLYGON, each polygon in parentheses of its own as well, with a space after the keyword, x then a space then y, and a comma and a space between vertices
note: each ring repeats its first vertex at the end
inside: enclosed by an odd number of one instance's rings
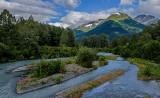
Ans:
POLYGON ((160 20, 152 15, 138 15, 134 19, 145 25, 156 24, 160 20))

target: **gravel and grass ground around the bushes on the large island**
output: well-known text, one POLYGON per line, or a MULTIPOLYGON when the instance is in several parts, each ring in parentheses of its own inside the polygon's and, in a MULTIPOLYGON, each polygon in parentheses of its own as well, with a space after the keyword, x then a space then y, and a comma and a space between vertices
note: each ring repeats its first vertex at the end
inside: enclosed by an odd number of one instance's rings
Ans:
MULTIPOLYGON (((78 64, 75 64, 75 59, 76 58, 74 57, 74 58, 63 60, 63 63, 66 64, 65 65, 66 72, 64 73, 53 74, 45 78, 32 78, 30 75, 28 75, 27 78, 19 80, 17 82, 16 93, 23 94, 23 93, 41 89, 47 86, 56 85, 58 83, 67 81, 76 76, 79 76, 84 73, 90 72, 94 69, 97 69, 97 67, 100 66, 98 61, 94 61, 92 68, 84 68, 78 64)), ((26 71, 26 70, 29 71, 35 68, 37 65, 38 63, 32 63, 30 65, 14 69, 12 72, 26 71)))

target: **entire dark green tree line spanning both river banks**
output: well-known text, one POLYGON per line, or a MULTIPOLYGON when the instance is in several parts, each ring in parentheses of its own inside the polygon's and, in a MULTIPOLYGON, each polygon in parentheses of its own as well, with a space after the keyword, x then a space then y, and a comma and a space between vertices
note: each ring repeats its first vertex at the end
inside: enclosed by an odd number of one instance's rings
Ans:
POLYGON ((82 37, 76 43, 70 28, 38 23, 31 15, 27 20, 16 19, 8 10, 0 14, 0 62, 36 58, 75 56, 77 47, 107 49, 123 57, 160 60, 160 22, 133 34, 109 41, 106 34, 82 37))

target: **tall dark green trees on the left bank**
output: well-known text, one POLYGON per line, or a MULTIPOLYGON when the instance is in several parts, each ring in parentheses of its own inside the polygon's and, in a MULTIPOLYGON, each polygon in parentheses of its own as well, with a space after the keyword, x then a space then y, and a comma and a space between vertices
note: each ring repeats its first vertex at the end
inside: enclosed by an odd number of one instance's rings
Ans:
POLYGON ((41 46, 75 47, 74 31, 70 28, 39 23, 31 15, 16 19, 8 10, 0 14, 0 62, 41 58, 41 46))

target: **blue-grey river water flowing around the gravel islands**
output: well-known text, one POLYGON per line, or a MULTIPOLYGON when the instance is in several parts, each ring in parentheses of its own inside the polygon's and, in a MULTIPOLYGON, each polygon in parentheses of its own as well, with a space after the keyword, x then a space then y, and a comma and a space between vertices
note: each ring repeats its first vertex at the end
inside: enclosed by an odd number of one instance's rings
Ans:
MULTIPOLYGON (((99 53, 99 55, 111 54, 99 53)), ((53 95, 61 90, 98 78, 114 70, 124 70, 126 73, 123 76, 94 88, 93 90, 85 92, 83 97, 141 98, 147 95, 151 95, 155 98, 160 97, 160 84, 156 81, 137 80, 138 67, 130 64, 121 57, 118 57, 117 60, 109 60, 107 66, 99 67, 94 71, 85 73, 59 85, 49 86, 21 95, 16 94, 16 82, 21 79, 20 75, 24 72, 10 73, 10 71, 17 67, 39 61, 40 60, 25 60, 0 64, 0 98, 53 98, 53 95)))

